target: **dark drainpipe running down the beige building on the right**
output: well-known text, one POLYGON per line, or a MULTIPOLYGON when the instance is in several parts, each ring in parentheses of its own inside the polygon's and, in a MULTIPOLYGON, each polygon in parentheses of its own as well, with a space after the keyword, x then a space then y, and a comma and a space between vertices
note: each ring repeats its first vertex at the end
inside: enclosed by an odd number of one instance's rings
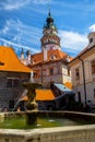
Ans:
POLYGON ((84 70, 84 61, 79 57, 79 60, 82 62, 82 71, 83 71, 83 86, 84 86, 84 98, 85 98, 85 107, 86 104, 86 84, 85 84, 85 70, 84 70))

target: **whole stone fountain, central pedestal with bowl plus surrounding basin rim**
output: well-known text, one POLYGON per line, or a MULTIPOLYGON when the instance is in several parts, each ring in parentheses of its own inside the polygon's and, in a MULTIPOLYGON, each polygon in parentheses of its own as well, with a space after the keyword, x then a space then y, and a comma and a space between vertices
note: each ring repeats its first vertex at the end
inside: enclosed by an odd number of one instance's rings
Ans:
MULTIPOLYGON (((24 83, 23 86, 27 90, 28 102, 26 105, 27 125, 37 123, 37 103, 35 102, 35 90, 41 85, 38 83, 24 83)), ((95 114, 75 113, 75 111, 48 111, 49 116, 60 118, 80 118, 93 121, 93 125, 68 126, 19 130, 19 129, 0 129, 0 142, 95 142, 95 114)), ((4 118, 17 117, 23 115, 20 113, 4 113, 0 116, 4 118)), ((41 113, 44 115, 46 113, 41 113)))

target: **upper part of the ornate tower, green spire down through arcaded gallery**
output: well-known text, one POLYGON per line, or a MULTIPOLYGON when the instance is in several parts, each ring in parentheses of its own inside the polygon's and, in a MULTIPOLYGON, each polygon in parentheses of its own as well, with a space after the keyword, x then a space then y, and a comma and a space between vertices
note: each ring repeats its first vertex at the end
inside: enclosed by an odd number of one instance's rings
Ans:
POLYGON ((43 28, 44 36, 40 38, 41 43, 41 51, 46 50, 60 50, 60 37, 57 35, 58 31, 56 25, 54 24, 54 19, 51 17, 51 13, 49 11, 48 17, 46 19, 46 24, 43 28))

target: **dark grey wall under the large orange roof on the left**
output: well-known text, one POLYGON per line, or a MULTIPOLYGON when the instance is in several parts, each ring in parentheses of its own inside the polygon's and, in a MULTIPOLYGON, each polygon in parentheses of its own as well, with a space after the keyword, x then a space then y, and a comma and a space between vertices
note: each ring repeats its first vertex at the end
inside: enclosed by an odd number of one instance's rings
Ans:
POLYGON ((21 97, 24 88, 22 87, 22 83, 24 81, 29 81, 29 73, 23 72, 0 72, 0 109, 1 111, 9 110, 12 106, 12 102, 15 103, 21 97), (7 86, 7 80, 17 79, 20 81, 19 84, 15 83, 14 86, 7 86), (10 103, 11 102, 11 103, 10 103))

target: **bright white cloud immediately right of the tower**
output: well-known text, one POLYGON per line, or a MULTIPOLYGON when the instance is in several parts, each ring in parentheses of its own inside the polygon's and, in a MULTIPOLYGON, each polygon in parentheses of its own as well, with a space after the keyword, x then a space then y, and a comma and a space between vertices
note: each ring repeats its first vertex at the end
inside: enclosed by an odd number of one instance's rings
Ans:
POLYGON ((59 31, 63 50, 76 55, 87 45, 87 36, 74 32, 59 31))

